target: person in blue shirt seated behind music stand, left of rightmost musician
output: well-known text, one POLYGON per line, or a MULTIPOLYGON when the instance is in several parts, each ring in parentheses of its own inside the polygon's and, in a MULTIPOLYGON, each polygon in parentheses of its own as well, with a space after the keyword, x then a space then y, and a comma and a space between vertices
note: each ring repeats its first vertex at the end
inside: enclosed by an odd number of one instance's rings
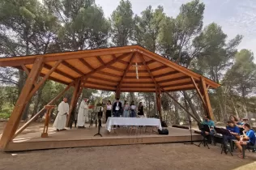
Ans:
POLYGON ((232 139, 239 139, 240 134, 240 128, 233 123, 233 121, 228 121, 228 125, 226 127, 227 130, 229 130, 230 134, 232 136, 223 135, 223 144, 224 144, 224 152, 227 154, 227 142, 229 142, 232 139))

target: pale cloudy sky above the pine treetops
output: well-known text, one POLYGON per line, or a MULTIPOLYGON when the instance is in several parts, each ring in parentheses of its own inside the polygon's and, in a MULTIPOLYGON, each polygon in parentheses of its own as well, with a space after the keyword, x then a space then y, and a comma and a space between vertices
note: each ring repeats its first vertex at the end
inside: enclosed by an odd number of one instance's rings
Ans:
MULTIPOLYGON (((139 15, 147 6, 164 6, 164 12, 176 17, 181 4, 191 0, 130 0, 134 14, 139 15)), ((101 6, 105 16, 109 17, 117 8, 120 0, 96 0, 101 6)), ((201 0, 205 4, 203 23, 219 24, 228 40, 233 39, 237 34, 244 38, 238 49, 250 49, 254 52, 256 63, 256 0, 201 0)))

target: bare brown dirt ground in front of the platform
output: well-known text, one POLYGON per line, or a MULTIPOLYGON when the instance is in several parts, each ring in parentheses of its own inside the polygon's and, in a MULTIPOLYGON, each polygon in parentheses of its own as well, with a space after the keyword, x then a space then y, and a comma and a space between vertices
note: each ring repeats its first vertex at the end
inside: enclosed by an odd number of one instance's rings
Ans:
POLYGON ((183 143, 83 147, 47 151, 0 152, 0 169, 255 169, 256 153, 246 159, 221 155, 220 146, 183 143))

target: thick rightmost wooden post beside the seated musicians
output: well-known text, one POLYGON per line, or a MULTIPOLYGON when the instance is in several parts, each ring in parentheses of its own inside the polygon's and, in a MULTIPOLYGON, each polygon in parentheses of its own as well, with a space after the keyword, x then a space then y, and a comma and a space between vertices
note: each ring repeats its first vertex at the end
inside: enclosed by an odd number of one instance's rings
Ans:
POLYGON ((205 110, 206 110, 206 113, 209 117, 211 117, 211 120, 213 120, 213 113, 212 113, 212 110, 211 110, 211 103, 210 103, 210 98, 208 96, 208 91, 207 91, 207 85, 205 83, 205 79, 204 78, 201 78, 200 79, 200 87, 201 87, 201 91, 202 91, 202 94, 203 94, 203 99, 205 100, 205 110))

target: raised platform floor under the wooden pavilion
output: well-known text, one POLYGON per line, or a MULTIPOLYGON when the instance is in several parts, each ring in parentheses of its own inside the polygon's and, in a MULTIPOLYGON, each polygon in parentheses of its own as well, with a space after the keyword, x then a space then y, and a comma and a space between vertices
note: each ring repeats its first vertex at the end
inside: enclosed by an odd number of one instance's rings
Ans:
MULTIPOLYGON (((87 125, 88 127, 88 125, 87 125)), ((166 142, 190 142, 190 130, 169 127, 169 135, 159 135, 156 132, 128 134, 125 128, 113 130, 109 133, 105 125, 100 129, 103 137, 96 136, 97 128, 92 126, 86 129, 64 130, 57 132, 49 128, 49 138, 41 138, 43 126, 36 132, 24 132, 19 134, 12 142, 9 142, 5 151, 31 151, 70 147, 98 147, 113 145, 133 145, 166 142)), ((25 130, 24 130, 25 131, 25 130)), ((193 134, 193 141, 200 141, 199 134, 193 134)))

